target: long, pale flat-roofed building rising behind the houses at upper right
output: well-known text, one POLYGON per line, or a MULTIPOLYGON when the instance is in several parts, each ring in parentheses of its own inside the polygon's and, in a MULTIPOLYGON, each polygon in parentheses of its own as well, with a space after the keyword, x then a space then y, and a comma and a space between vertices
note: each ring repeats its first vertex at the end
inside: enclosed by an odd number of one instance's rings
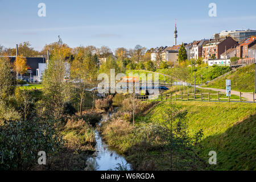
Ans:
POLYGON ((234 31, 222 31, 218 34, 220 38, 225 38, 226 36, 232 37, 238 43, 242 43, 251 36, 256 36, 256 30, 234 30, 234 31))

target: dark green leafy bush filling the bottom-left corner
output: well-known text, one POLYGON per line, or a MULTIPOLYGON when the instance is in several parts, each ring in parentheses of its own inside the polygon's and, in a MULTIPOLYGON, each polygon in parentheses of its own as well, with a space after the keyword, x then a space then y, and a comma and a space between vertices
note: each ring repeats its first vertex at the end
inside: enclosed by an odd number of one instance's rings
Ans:
POLYGON ((0 126, 0 170, 31 169, 37 163, 39 151, 45 151, 48 159, 62 144, 49 119, 6 121, 0 126))

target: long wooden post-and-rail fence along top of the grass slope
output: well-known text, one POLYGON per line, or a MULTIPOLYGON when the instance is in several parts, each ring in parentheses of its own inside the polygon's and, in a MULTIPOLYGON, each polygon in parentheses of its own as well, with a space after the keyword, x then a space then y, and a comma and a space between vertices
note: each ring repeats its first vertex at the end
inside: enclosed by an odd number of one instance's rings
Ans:
MULTIPOLYGON (((146 101, 146 100, 155 100, 155 101, 167 101, 167 100, 174 100, 174 101, 228 101, 228 102, 248 102, 247 99, 242 98, 242 92, 240 92, 240 96, 231 96, 229 93, 226 96, 226 93, 218 92, 218 93, 187 93, 187 94, 160 94, 158 96, 136 96, 135 98, 146 101), (226 97, 223 97, 226 96, 226 97), (237 98, 232 98, 237 97, 237 98), (239 98, 239 99, 238 99, 239 98)), ((255 93, 252 94, 253 103, 255 103, 255 93)))

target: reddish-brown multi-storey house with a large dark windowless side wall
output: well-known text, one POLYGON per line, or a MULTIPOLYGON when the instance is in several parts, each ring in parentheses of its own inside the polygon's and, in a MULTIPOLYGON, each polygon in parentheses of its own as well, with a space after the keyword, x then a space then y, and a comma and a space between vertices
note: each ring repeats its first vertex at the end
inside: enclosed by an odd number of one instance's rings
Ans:
POLYGON ((209 42, 203 44, 203 59, 209 60, 212 56, 215 59, 221 59, 221 54, 233 47, 237 47, 238 43, 231 37, 225 37, 220 39, 210 39, 209 42))

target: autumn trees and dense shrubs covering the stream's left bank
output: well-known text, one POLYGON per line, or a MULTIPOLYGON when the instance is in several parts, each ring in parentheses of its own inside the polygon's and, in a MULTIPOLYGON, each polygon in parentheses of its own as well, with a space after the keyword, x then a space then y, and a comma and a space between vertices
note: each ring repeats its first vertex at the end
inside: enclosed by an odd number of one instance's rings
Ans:
POLYGON ((0 65, 0 169, 84 170, 101 119, 93 111, 97 96, 84 90, 77 97, 77 85, 64 82, 61 56, 49 62, 40 89, 16 87, 10 60, 2 57, 0 65), (39 151, 46 165, 38 164, 39 151))

